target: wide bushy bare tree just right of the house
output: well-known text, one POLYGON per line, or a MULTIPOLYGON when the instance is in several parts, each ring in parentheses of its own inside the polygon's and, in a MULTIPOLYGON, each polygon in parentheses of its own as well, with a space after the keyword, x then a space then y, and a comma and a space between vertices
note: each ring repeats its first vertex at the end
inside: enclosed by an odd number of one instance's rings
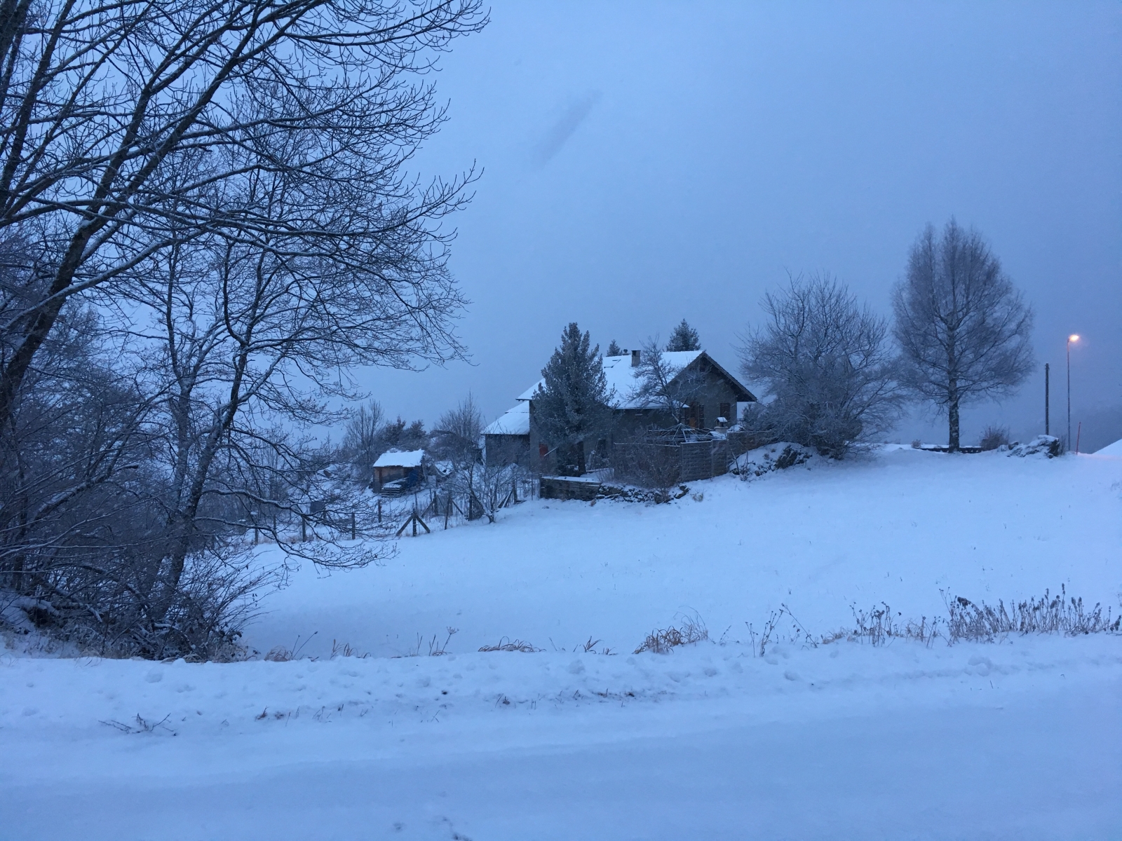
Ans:
POLYGON ((828 275, 764 296, 766 325, 744 338, 741 367, 773 399, 746 419, 774 441, 842 458, 899 416, 888 325, 828 275))

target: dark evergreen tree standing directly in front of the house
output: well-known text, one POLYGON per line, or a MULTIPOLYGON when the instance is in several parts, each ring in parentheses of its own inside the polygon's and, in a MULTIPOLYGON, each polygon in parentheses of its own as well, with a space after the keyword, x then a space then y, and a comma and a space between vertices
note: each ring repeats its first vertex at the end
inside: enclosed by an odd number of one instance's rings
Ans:
POLYGON ((561 333, 561 345, 542 369, 544 382, 534 391, 534 420, 542 437, 557 447, 558 462, 585 472, 585 442, 607 434, 611 419, 600 345, 589 346, 588 332, 576 322, 561 333))

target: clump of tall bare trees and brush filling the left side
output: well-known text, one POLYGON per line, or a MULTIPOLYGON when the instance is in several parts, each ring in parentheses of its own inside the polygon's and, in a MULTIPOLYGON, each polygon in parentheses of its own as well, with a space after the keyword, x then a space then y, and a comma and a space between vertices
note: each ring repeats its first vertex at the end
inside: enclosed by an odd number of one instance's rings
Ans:
POLYGON ((444 119, 424 74, 484 22, 0 0, 0 586, 117 650, 210 657, 273 580, 250 535, 387 551, 340 539, 380 532, 301 429, 355 366, 462 353, 440 224, 472 175, 404 167, 444 119))

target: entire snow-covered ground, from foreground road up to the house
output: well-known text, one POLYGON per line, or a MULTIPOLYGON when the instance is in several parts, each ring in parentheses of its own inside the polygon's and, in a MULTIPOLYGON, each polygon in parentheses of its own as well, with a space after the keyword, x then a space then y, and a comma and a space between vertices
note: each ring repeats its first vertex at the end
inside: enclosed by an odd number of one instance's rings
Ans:
POLYGON ((246 638, 310 637, 302 659, 0 655, 0 838, 1122 833, 1122 637, 760 657, 747 626, 1061 584, 1118 613, 1122 459, 893 449, 692 490, 526 502, 384 566, 303 570, 246 638), (687 617, 709 641, 631 654, 687 617), (445 656, 394 658, 448 627, 445 656), (477 650, 503 638, 544 650, 477 650))

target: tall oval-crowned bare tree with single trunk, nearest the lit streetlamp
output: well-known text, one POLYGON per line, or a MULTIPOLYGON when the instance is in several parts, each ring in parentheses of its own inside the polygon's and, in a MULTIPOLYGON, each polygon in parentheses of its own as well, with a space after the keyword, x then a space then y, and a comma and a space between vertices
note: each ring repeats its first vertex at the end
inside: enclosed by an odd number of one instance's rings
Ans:
POLYGON ((1012 394, 1032 370, 1032 308, 982 235, 955 220, 928 225, 908 274, 892 293, 901 379, 947 413, 948 445, 959 446, 959 406, 1012 394))

